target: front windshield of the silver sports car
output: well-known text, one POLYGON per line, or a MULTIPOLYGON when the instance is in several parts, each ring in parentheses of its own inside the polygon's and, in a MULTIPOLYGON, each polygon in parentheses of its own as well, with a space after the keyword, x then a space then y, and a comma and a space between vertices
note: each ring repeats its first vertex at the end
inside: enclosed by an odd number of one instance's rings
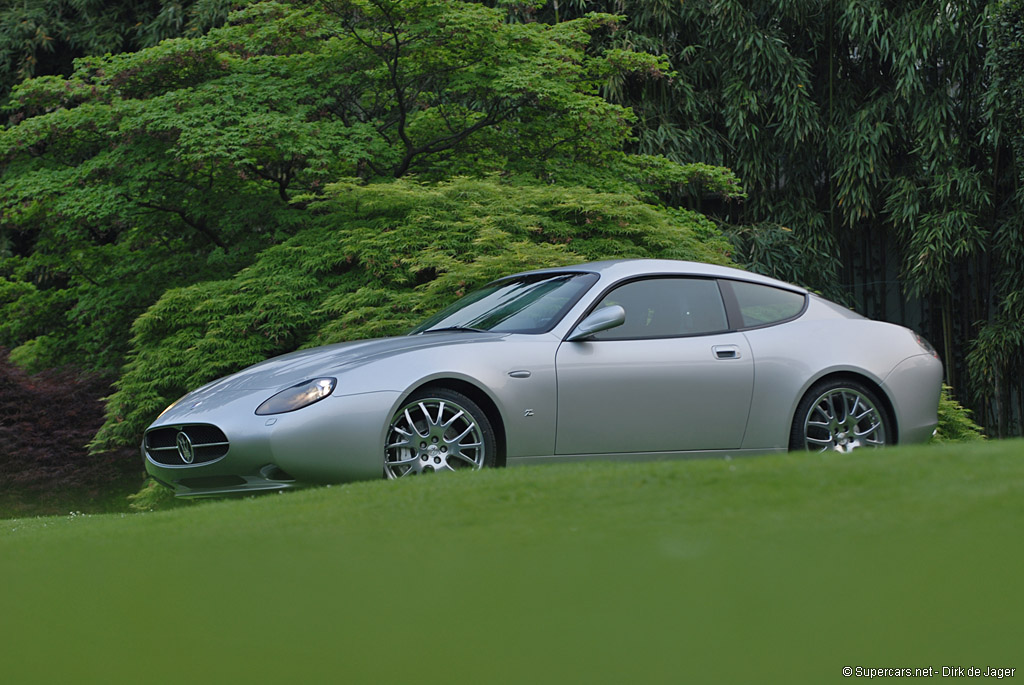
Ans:
POLYGON ((497 281, 460 298, 410 332, 546 333, 597 281, 596 273, 542 273, 497 281))

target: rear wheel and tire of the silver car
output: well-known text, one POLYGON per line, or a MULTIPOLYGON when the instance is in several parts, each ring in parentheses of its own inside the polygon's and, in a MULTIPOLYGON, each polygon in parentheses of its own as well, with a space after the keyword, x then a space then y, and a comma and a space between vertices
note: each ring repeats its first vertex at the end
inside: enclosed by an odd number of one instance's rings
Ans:
POLYGON ((790 449, 852 452, 893 444, 895 424, 874 391, 853 379, 813 386, 800 400, 790 431, 790 449))

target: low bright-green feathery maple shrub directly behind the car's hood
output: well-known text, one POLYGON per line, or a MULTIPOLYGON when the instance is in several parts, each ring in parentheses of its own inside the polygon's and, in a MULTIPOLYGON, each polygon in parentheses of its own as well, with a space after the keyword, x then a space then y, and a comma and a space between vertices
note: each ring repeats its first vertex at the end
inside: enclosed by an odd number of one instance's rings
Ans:
POLYGON ((500 275, 605 257, 728 261, 694 212, 495 178, 340 182, 308 224, 233 277, 170 290, 138 317, 95 448, 137 443, 168 403, 215 378, 298 347, 404 333, 500 275))

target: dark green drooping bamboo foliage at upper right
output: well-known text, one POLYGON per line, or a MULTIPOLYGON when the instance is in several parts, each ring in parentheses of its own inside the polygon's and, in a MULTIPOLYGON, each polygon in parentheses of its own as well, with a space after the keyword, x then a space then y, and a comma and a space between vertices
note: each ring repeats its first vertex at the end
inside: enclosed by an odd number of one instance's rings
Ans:
POLYGON ((837 295, 842 231, 883 221, 902 231, 907 291, 930 294, 981 248, 992 203, 985 5, 578 0, 561 15, 618 7, 610 44, 667 55, 672 80, 605 85, 636 109, 637 148, 734 169, 751 197, 723 218, 796 231, 816 264, 801 281, 837 295))

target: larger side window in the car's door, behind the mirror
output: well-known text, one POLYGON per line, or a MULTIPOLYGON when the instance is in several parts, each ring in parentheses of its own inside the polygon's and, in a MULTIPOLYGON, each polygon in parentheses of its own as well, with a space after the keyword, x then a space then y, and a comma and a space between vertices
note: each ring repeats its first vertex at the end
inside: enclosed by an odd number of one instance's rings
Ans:
POLYGON ((671 338, 717 333, 729 328, 718 284, 709 279, 646 279, 620 286, 598 308, 617 304, 626 323, 594 340, 671 338))

